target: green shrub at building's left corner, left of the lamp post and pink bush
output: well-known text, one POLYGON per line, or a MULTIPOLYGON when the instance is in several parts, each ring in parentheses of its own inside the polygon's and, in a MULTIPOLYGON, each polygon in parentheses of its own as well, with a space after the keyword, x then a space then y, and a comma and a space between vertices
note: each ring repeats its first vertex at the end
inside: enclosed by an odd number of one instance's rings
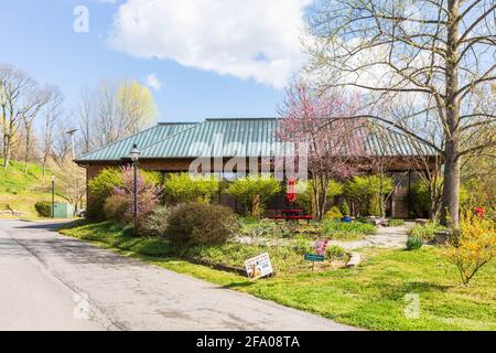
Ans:
POLYGON ((91 222, 105 221, 105 200, 114 194, 116 186, 121 186, 122 184, 122 174, 115 168, 106 168, 89 180, 89 202, 86 208, 86 217, 91 222))

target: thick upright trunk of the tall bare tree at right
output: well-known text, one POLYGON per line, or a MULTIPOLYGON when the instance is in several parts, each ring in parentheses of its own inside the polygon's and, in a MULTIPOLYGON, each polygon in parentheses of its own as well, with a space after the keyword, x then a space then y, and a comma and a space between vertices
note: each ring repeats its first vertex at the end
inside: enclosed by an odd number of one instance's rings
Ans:
POLYGON ((449 0, 450 20, 446 45, 446 146, 444 150, 444 184, 441 203, 441 223, 456 228, 460 208, 460 99, 459 89, 459 0, 449 0))

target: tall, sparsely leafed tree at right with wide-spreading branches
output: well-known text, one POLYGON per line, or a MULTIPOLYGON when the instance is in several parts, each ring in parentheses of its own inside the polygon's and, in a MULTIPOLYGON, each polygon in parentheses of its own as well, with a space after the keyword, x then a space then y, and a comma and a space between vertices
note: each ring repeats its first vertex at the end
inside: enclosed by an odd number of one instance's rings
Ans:
POLYGON ((442 154, 441 218, 453 227, 461 160, 496 143, 486 133, 496 122, 494 101, 479 99, 490 96, 495 81, 495 9, 494 0, 323 0, 309 21, 316 39, 309 45, 310 68, 322 87, 360 89, 369 104, 358 115, 393 125, 442 154), (376 114, 406 97, 416 97, 413 114, 393 120, 376 114), (443 146, 412 128, 434 111, 443 146))

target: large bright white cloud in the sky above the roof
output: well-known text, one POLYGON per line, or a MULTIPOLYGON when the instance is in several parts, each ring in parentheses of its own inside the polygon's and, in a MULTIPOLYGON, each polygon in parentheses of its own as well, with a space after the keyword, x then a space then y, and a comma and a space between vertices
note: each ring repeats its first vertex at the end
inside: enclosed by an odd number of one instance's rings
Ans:
POLYGON ((112 47, 137 57, 283 87, 303 62, 304 7, 312 0, 128 0, 112 47))

